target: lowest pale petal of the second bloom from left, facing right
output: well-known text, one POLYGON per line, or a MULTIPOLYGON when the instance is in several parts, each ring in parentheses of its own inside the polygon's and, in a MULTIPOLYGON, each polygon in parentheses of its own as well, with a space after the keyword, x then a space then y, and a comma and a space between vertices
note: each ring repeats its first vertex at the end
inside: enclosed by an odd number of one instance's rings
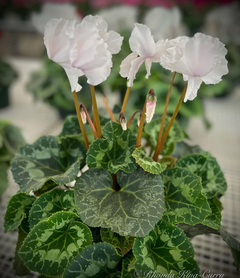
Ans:
POLYGON ((99 68, 85 70, 84 74, 88 78, 87 83, 96 86, 107 79, 113 66, 112 60, 109 59, 107 63, 99 68))

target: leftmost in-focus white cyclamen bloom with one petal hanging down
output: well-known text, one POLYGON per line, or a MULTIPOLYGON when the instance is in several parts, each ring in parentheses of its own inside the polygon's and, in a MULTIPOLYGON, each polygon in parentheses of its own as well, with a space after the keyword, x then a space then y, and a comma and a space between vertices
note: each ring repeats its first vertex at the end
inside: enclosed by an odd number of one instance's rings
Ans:
POLYGON ((61 65, 66 71, 72 92, 78 92, 82 87, 77 83, 82 72, 73 68, 70 63, 70 40, 73 37, 75 20, 52 18, 45 26, 44 44, 47 55, 53 62, 61 65))

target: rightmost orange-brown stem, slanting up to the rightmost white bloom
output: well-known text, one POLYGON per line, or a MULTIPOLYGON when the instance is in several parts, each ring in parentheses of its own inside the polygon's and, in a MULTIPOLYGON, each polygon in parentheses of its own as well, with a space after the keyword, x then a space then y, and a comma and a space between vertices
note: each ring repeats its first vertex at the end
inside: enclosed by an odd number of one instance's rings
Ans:
POLYGON ((154 153, 154 156, 153 156, 154 161, 158 161, 158 156, 161 153, 161 150, 162 150, 162 148, 164 146, 164 143, 165 143, 165 141, 167 139, 168 132, 169 132, 171 126, 173 125, 174 119, 177 116, 177 113, 179 111, 179 108, 180 108, 180 106, 182 104, 182 101, 184 99, 184 96, 185 96, 186 92, 187 92, 187 83, 186 83, 186 85, 185 85, 185 87, 184 87, 184 89, 182 91, 182 94, 180 96, 178 104, 177 104, 177 106, 176 106, 176 108, 175 108, 175 110, 173 112, 173 116, 170 119, 170 122, 169 122, 169 124, 168 124, 168 126, 167 126, 167 128, 166 128, 166 130, 165 130, 165 132, 163 134, 163 138, 162 138, 161 142, 157 144, 157 147, 156 147, 156 150, 155 150, 155 153, 154 153))

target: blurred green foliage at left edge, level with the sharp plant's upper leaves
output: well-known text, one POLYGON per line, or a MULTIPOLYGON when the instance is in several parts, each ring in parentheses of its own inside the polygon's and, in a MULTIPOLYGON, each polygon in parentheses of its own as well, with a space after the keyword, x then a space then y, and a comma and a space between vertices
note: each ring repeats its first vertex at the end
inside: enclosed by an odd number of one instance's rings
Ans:
POLYGON ((0 196, 7 188, 7 170, 10 160, 25 141, 22 134, 14 125, 0 119, 0 196))

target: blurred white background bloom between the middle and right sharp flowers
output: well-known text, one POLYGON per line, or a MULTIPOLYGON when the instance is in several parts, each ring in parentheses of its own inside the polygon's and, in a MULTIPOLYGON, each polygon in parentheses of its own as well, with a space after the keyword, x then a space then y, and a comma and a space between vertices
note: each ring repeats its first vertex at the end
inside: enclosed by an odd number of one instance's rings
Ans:
POLYGON ((178 7, 171 9, 155 7, 146 13, 144 20, 149 26, 155 40, 173 39, 187 35, 187 27, 182 22, 182 14, 178 7))

